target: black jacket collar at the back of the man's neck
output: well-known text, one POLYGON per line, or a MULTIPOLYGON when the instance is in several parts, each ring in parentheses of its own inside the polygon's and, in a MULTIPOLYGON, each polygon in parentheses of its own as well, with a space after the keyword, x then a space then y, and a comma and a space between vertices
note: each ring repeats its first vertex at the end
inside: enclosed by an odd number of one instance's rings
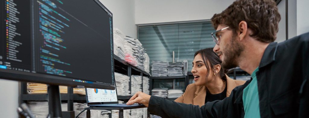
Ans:
POLYGON ((270 43, 265 49, 265 52, 259 65, 259 69, 275 61, 276 51, 277 51, 277 42, 270 43))

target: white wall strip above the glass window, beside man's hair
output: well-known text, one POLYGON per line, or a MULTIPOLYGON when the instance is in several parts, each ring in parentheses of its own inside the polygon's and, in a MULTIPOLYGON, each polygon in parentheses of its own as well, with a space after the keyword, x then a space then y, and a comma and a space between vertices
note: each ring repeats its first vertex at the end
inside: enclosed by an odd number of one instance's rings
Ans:
POLYGON ((210 19, 235 0, 135 0, 135 24, 210 19))

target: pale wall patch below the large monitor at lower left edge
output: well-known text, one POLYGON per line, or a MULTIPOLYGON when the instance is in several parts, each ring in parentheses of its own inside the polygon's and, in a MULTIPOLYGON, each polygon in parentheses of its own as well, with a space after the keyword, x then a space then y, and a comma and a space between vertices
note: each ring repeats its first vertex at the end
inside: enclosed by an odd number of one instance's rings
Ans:
POLYGON ((17 118, 18 82, 0 79, 0 117, 17 118))

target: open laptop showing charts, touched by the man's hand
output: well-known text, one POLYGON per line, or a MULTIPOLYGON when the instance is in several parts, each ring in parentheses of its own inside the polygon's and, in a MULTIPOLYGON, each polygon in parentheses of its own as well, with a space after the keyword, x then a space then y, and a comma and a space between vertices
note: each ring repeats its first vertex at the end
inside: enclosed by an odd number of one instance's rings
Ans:
POLYGON ((95 107, 139 107, 144 106, 142 104, 119 104, 117 98, 117 89, 115 85, 115 90, 107 90, 107 89, 91 89, 86 88, 86 99, 88 106, 95 107))

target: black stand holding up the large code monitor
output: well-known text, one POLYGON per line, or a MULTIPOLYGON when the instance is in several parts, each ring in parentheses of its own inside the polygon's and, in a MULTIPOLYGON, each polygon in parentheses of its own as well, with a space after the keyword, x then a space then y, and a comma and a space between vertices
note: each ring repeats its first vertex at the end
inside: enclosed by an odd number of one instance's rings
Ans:
POLYGON ((51 118, 62 118, 59 85, 47 85, 48 112, 51 118))

